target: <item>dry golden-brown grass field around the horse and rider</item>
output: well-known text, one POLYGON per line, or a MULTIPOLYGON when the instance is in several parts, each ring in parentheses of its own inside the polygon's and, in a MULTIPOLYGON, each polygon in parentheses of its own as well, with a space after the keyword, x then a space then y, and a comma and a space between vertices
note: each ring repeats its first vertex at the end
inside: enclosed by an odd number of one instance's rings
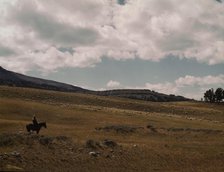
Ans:
POLYGON ((224 106, 0 87, 0 171, 224 171, 224 106), (28 134, 36 114, 47 128, 28 134))

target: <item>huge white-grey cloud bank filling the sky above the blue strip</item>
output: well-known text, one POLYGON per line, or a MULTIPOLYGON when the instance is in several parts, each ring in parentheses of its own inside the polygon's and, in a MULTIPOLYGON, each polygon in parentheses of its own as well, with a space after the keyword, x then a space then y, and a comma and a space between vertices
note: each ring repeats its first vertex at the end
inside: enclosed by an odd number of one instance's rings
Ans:
POLYGON ((160 61, 170 54, 224 63, 224 4, 215 0, 12 2, 0 2, 0 61, 9 69, 54 71, 92 67, 103 57, 160 61), (14 60, 6 63, 9 55, 14 60))

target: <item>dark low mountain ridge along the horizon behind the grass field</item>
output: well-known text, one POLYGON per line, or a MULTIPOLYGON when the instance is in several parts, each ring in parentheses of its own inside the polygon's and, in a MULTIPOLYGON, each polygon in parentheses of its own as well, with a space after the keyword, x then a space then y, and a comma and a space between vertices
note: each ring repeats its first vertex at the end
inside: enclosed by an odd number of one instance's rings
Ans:
POLYGON ((29 87, 45 90, 63 91, 63 92, 78 92, 78 93, 88 93, 99 96, 115 96, 122 98, 131 98, 145 101, 155 101, 155 102, 168 102, 168 101, 188 101, 182 96, 166 95, 158 93, 151 90, 140 90, 140 89, 120 89, 120 90, 107 90, 107 91, 91 91, 83 89, 81 87, 40 79, 35 77, 30 77, 8 71, 0 66, 0 85, 8 85, 15 87, 29 87))

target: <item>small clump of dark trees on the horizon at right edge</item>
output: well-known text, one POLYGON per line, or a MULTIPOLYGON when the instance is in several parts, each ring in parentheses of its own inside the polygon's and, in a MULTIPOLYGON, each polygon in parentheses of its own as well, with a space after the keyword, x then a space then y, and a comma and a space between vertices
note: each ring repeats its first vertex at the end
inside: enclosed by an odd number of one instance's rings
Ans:
POLYGON ((222 102, 224 99, 224 90, 222 88, 217 88, 215 91, 213 88, 207 90, 204 93, 204 100, 206 102, 222 102))

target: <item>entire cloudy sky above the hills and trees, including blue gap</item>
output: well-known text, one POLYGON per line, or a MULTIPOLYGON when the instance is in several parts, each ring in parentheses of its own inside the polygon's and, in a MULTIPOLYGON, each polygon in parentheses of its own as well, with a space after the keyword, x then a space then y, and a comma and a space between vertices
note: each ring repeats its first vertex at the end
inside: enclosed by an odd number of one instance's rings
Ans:
POLYGON ((224 88, 224 0, 0 0, 0 66, 93 90, 224 88))

